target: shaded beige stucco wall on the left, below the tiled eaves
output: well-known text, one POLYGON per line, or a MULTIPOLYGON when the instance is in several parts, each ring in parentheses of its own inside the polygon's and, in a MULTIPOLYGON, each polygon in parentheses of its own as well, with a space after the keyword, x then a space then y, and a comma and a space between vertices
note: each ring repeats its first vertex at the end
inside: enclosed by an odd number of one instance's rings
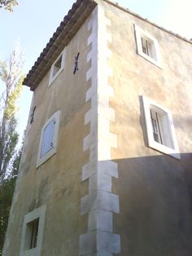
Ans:
POLYGON ((11 219, 7 230, 5 255, 19 255, 24 215, 46 205, 46 223, 41 255, 77 255, 79 236, 87 229, 87 215, 81 217, 81 197, 87 183, 81 184, 82 166, 89 159, 83 152, 83 139, 89 132, 85 126, 85 92, 89 88, 86 71, 90 63, 86 55, 89 19, 66 46, 65 65, 55 82, 49 85, 50 71, 33 94, 36 105, 34 121, 28 123, 20 177, 15 190, 11 219), (79 70, 73 74, 74 61, 80 52, 79 70), (41 128, 53 113, 61 111, 57 152, 36 168, 41 128), (13 232, 15 231, 15 232, 13 232))

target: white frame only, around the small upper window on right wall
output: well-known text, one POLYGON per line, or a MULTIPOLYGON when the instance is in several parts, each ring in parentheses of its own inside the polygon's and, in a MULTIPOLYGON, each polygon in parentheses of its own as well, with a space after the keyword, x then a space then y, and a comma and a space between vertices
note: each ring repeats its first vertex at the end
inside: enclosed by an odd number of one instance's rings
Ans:
POLYGON ((144 59, 149 60, 151 63, 161 68, 158 40, 151 36, 150 33, 147 33, 145 30, 139 28, 136 24, 134 24, 134 28, 137 42, 137 54, 141 55, 144 59), (142 51, 142 38, 146 38, 146 40, 151 42, 153 47, 153 56, 147 55, 142 51))

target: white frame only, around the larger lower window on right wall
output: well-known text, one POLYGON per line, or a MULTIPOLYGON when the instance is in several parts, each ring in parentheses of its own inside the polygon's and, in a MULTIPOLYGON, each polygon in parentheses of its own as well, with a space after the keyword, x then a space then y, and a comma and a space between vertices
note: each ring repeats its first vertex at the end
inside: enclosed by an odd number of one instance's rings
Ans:
POLYGON ((156 104, 154 100, 148 99, 145 96, 142 96, 142 103, 146 121, 148 146, 150 148, 154 148, 159 152, 164 152, 169 156, 181 159, 171 111, 168 110, 168 108, 164 108, 163 106, 156 104), (171 141, 172 147, 168 147, 162 143, 158 143, 155 141, 153 135, 153 126, 151 123, 151 108, 159 113, 164 113, 164 121, 166 122, 167 127, 167 132, 164 133, 164 136, 168 136, 169 141, 171 141))

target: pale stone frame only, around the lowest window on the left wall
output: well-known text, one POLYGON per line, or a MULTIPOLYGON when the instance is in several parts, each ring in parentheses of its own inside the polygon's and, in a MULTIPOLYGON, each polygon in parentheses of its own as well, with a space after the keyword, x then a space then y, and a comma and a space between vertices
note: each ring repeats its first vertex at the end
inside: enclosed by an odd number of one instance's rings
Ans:
POLYGON ((46 205, 42 205, 41 207, 24 215, 24 223, 23 223, 21 243, 20 243, 20 256, 40 256, 41 255, 45 219, 46 219, 46 205), (37 246, 32 249, 27 249, 26 248, 26 239, 28 239, 27 225, 28 223, 33 222, 33 220, 37 218, 39 218, 37 246))

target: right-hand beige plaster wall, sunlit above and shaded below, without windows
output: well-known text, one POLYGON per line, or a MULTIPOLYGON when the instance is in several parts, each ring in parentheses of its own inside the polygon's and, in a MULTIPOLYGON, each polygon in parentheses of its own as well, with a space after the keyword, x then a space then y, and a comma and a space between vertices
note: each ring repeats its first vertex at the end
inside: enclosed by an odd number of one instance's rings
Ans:
MULTIPOLYGON (((112 192, 120 196, 114 232, 121 236, 120 255, 192 254, 192 45, 109 4, 109 65, 114 89, 111 132, 117 148, 119 179, 112 192), (133 24, 159 41, 162 68, 136 53, 133 24), (141 95, 172 111, 181 161, 147 147, 141 95)), ((119 254, 118 254, 119 255, 119 254)))

